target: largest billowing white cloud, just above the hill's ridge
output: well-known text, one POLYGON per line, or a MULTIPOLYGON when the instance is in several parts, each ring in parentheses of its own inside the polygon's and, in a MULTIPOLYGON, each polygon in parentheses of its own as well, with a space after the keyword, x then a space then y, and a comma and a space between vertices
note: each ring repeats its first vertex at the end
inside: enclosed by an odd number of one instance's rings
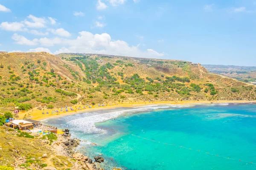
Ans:
POLYGON ((53 39, 45 39, 45 41, 55 42, 55 44, 58 45, 65 45, 65 47, 55 51, 54 54, 62 52, 80 52, 146 58, 159 58, 165 55, 164 53, 159 53, 153 49, 142 51, 139 49, 139 46, 130 46, 127 42, 122 40, 112 41, 111 36, 107 33, 92 34, 88 31, 81 31, 79 34, 80 36, 75 40, 62 39, 57 41, 53 39))

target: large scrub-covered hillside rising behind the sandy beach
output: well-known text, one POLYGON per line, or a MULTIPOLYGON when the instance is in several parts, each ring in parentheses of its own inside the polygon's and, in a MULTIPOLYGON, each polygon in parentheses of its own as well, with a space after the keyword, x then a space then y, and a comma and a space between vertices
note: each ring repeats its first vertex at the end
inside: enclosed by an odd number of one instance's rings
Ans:
POLYGON ((256 99, 255 86, 179 60, 39 52, 0 53, 0 64, 0 108, 256 99))

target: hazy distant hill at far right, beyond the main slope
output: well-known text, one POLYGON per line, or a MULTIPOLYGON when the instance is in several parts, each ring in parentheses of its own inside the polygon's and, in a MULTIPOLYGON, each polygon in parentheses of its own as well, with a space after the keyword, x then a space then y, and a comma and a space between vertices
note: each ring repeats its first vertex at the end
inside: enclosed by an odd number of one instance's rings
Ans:
POLYGON ((208 71, 243 82, 256 81, 256 67, 236 65, 203 65, 208 71))

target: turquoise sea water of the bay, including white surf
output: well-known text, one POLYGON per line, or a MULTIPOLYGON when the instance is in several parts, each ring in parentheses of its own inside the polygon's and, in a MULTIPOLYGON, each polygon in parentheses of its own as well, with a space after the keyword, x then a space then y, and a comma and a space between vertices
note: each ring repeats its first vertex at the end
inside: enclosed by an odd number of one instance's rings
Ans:
POLYGON ((78 151, 91 158, 102 153, 106 170, 256 169, 256 105, 152 105, 45 123, 86 140, 78 151))

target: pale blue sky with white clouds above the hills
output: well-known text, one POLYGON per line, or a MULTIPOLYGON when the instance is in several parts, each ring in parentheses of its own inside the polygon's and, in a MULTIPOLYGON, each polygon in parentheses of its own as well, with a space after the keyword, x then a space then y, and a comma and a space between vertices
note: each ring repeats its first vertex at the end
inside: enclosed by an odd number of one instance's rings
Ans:
POLYGON ((1 0, 0 51, 256 63, 256 0, 1 0))

